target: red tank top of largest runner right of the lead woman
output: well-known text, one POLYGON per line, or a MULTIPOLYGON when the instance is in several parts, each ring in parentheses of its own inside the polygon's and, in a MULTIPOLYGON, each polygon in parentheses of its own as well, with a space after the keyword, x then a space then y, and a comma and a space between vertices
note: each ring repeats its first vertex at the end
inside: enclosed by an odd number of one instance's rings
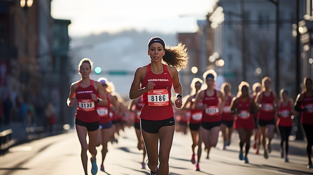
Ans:
MULTIPOLYGON (((207 89, 206 89, 207 90, 207 89)), ((218 122, 221 120, 221 116, 218 111, 218 98, 216 90, 214 89, 214 94, 212 96, 206 95, 206 90, 204 91, 203 104, 206 104, 206 109, 202 113, 202 122, 218 122)))

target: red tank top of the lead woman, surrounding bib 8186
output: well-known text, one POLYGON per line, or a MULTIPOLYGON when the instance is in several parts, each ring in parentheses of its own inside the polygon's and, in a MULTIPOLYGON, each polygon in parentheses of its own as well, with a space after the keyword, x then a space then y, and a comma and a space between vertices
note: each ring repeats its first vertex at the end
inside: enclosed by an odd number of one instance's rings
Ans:
POLYGON ((154 74, 151 71, 150 67, 151 63, 146 66, 146 74, 144 79, 141 82, 141 87, 145 87, 148 81, 152 81, 155 83, 155 86, 153 90, 150 90, 149 92, 155 92, 160 89, 165 89, 168 93, 166 95, 148 95, 148 93, 142 94, 142 109, 140 118, 144 120, 165 120, 169 119, 174 116, 173 108, 170 104, 170 97, 171 97, 171 86, 172 86, 172 79, 171 76, 167 70, 166 65, 163 65, 164 71, 161 74, 154 74), (149 97, 149 98, 148 98, 149 97), (155 98, 156 97, 156 98, 155 98), (151 102, 153 101, 167 101, 168 105, 166 106, 149 106, 151 102))

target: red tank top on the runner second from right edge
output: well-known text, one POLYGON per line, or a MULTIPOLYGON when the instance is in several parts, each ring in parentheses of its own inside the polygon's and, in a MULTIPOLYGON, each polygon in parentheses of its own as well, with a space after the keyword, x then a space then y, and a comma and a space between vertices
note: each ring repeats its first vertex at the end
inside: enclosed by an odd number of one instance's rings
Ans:
POLYGON ((278 119, 277 119, 276 125, 282 126, 282 127, 292 126, 290 101, 288 101, 286 106, 283 106, 282 102, 280 102, 279 108, 278 108, 278 119))

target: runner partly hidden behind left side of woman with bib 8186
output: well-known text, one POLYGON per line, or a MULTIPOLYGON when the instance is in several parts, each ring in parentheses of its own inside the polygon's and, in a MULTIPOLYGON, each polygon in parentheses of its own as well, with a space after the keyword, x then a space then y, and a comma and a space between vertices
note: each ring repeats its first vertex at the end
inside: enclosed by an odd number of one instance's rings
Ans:
POLYGON ((128 110, 130 112, 133 112, 135 115, 133 127, 135 129, 137 141, 138 141, 137 149, 142 150, 141 169, 145 169, 144 158, 146 155, 146 151, 145 151, 145 148, 143 145, 143 139, 142 139, 141 132, 140 132, 140 113, 141 113, 142 105, 143 105, 142 104, 142 96, 140 96, 139 98, 131 100, 131 102, 128 106, 128 110))

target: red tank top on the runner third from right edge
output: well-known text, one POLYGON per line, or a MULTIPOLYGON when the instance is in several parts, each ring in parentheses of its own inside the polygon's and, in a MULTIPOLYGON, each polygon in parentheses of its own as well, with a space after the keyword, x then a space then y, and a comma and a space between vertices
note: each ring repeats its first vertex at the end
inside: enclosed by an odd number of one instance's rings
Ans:
POLYGON ((262 94, 262 100, 259 102, 262 107, 260 108, 257 117, 264 121, 273 120, 275 119, 273 93, 270 92, 269 96, 265 96, 264 92, 262 92, 262 94))

